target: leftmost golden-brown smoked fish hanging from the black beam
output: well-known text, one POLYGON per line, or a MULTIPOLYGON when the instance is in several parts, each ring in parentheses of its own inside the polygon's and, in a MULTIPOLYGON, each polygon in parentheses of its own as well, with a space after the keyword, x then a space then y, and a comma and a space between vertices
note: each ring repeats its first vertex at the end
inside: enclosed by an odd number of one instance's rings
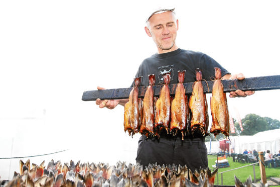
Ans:
POLYGON ((134 78, 134 86, 129 93, 128 102, 124 106, 124 132, 128 132, 129 136, 132 133, 139 131, 141 120, 143 118, 142 99, 138 99, 138 86, 140 85, 141 77, 134 78))

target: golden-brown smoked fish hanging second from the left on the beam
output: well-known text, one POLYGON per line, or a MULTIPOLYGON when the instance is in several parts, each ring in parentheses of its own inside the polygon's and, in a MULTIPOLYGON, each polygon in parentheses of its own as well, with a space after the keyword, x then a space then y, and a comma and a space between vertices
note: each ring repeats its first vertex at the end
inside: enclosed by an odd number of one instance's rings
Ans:
POLYGON ((153 85, 155 84, 155 74, 149 75, 149 84, 143 100, 143 120, 140 128, 141 134, 145 134, 147 137, 154 134, 155 105, 153 85))

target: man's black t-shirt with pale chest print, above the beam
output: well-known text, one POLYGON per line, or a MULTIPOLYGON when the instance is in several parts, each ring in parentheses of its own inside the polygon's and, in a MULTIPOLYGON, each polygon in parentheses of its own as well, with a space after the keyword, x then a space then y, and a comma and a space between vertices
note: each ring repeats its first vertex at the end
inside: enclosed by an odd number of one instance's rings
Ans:
MULTIPOLYGON (((210 80, 211 77, 215 77, 214 67, 221 69, 222 76, 229 73, 210 56, 179 48, 168 53, 156 53, 145 59, 139 66, 135 77, 143 76, 141 85, 147 86, 149 85, 148 75, 155 74, 155 85, 157 85, 163 83, 163 73, 171 72, 170 84, 175 84, 178 83, 178 70, 186 70, 184 83, 194 82, 196 81, 195 69, 199 68, 202 69, 202 78, 210 80)), ((133 83, 131 86, 133 86, 133 83)))

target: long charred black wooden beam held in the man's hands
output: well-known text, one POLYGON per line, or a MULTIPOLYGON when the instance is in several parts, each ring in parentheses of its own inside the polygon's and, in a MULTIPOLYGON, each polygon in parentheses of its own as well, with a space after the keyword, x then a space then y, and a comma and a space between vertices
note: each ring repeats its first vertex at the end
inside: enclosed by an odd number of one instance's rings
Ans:
MULTIPOLYGON (((187 95, 191 95, 193 91, 193 83, 194 82, 184 83, 187 95)), ((243 91, 280 89, 280 75, 250 77, 245 78, 244 80, 222 80, 222 84, 224 86, 224 92, 230 92, 236 89, 241 89, 243 91)), ((205 93, 212 93, 213 81, 202 81, 202 85, 205 93)), ((177 84, 169 85, 170 95, 175 95, 176 86, 177 84)), ((147 86, 139 87, 139 97, 144 97, 146 87, 147 86)), ((153 87, 155 96, 160 95, 161 87, 162 85, 155 85, 153 87)), ((95 101, 98 98, 101 100, 127 99, 131 89, 132 87, 84 91, 82 100, 95 101)))

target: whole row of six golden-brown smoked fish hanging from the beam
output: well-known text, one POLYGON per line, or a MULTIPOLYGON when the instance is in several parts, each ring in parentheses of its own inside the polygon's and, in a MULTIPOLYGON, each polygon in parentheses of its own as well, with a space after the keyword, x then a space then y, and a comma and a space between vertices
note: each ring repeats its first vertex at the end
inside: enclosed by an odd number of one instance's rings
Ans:
MULTIPOLYGON (((191 116, 191 132, 200 132, 208 135, 208 112, 206 95, 203 92, 202 74, 196 69, 196 81, 193 84, 193 92, 188 102, 183 81, 185 70, 178 71, 179 83, 176 87, 174 98, 170 96, 170 73, 163 74, 164 85, 161 88, 160 97, 154 97, 153 85, 155 75, 149 75, 149 86, 144 99, 138 98, 138 87, 141 77, 134 79, 134 86, 129 94, 128 103, 124 106, 124 132, 129 135, 140 132, 148 136, 160 137, 162 130, 176 135, 182 133, 182 139, 188 132, 188 124, 191 116), (190 113, 192 115, 190 115, 190 113)), ((220 132, 229 135, 229 115, 226 94, 221 83, 221 70, 215 67, 215 77, 212 97, 210 101, 212 126, 210 133, 215 136, 220 132)))

